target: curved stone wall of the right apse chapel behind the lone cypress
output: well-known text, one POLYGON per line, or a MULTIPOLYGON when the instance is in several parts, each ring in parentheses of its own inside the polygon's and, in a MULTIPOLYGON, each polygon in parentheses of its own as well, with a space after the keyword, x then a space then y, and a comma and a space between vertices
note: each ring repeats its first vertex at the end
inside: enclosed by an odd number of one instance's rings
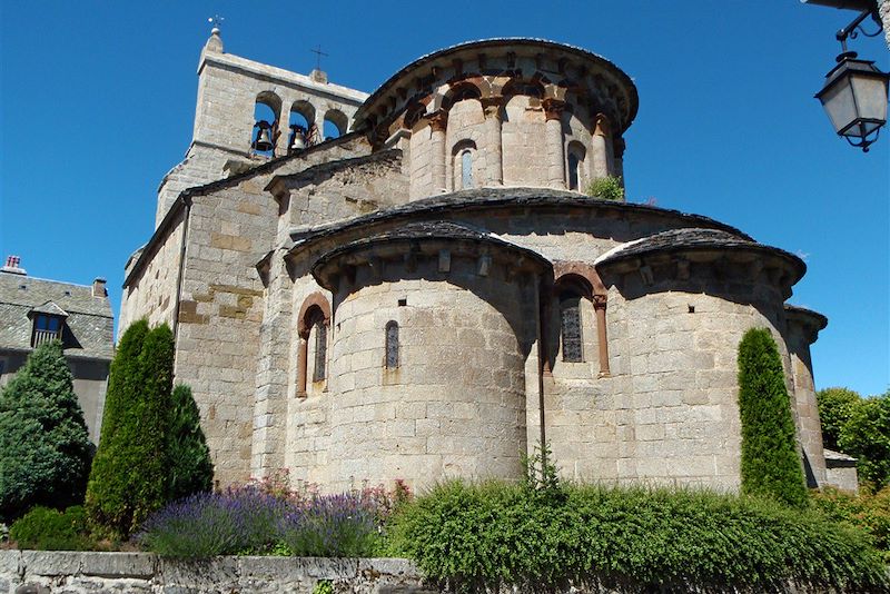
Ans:
POLYGON ((787 354, 777 329, 784 324, 782 296, 765 275, 752 280, 742 270, 691 266, 689 280, 659 278, 665 273, 659 269, 649 286, 639 271, 603 279, 612 362, 603 384, 612 389, 600 405, 609 410, 591 417, 590 433, 614 432, 615 444, 611 452, 602 444, 587 449, 604 458, 591 469, 609 468, 619 482, 736 491, 739 343, 749 328, 767 327, 787 354))

